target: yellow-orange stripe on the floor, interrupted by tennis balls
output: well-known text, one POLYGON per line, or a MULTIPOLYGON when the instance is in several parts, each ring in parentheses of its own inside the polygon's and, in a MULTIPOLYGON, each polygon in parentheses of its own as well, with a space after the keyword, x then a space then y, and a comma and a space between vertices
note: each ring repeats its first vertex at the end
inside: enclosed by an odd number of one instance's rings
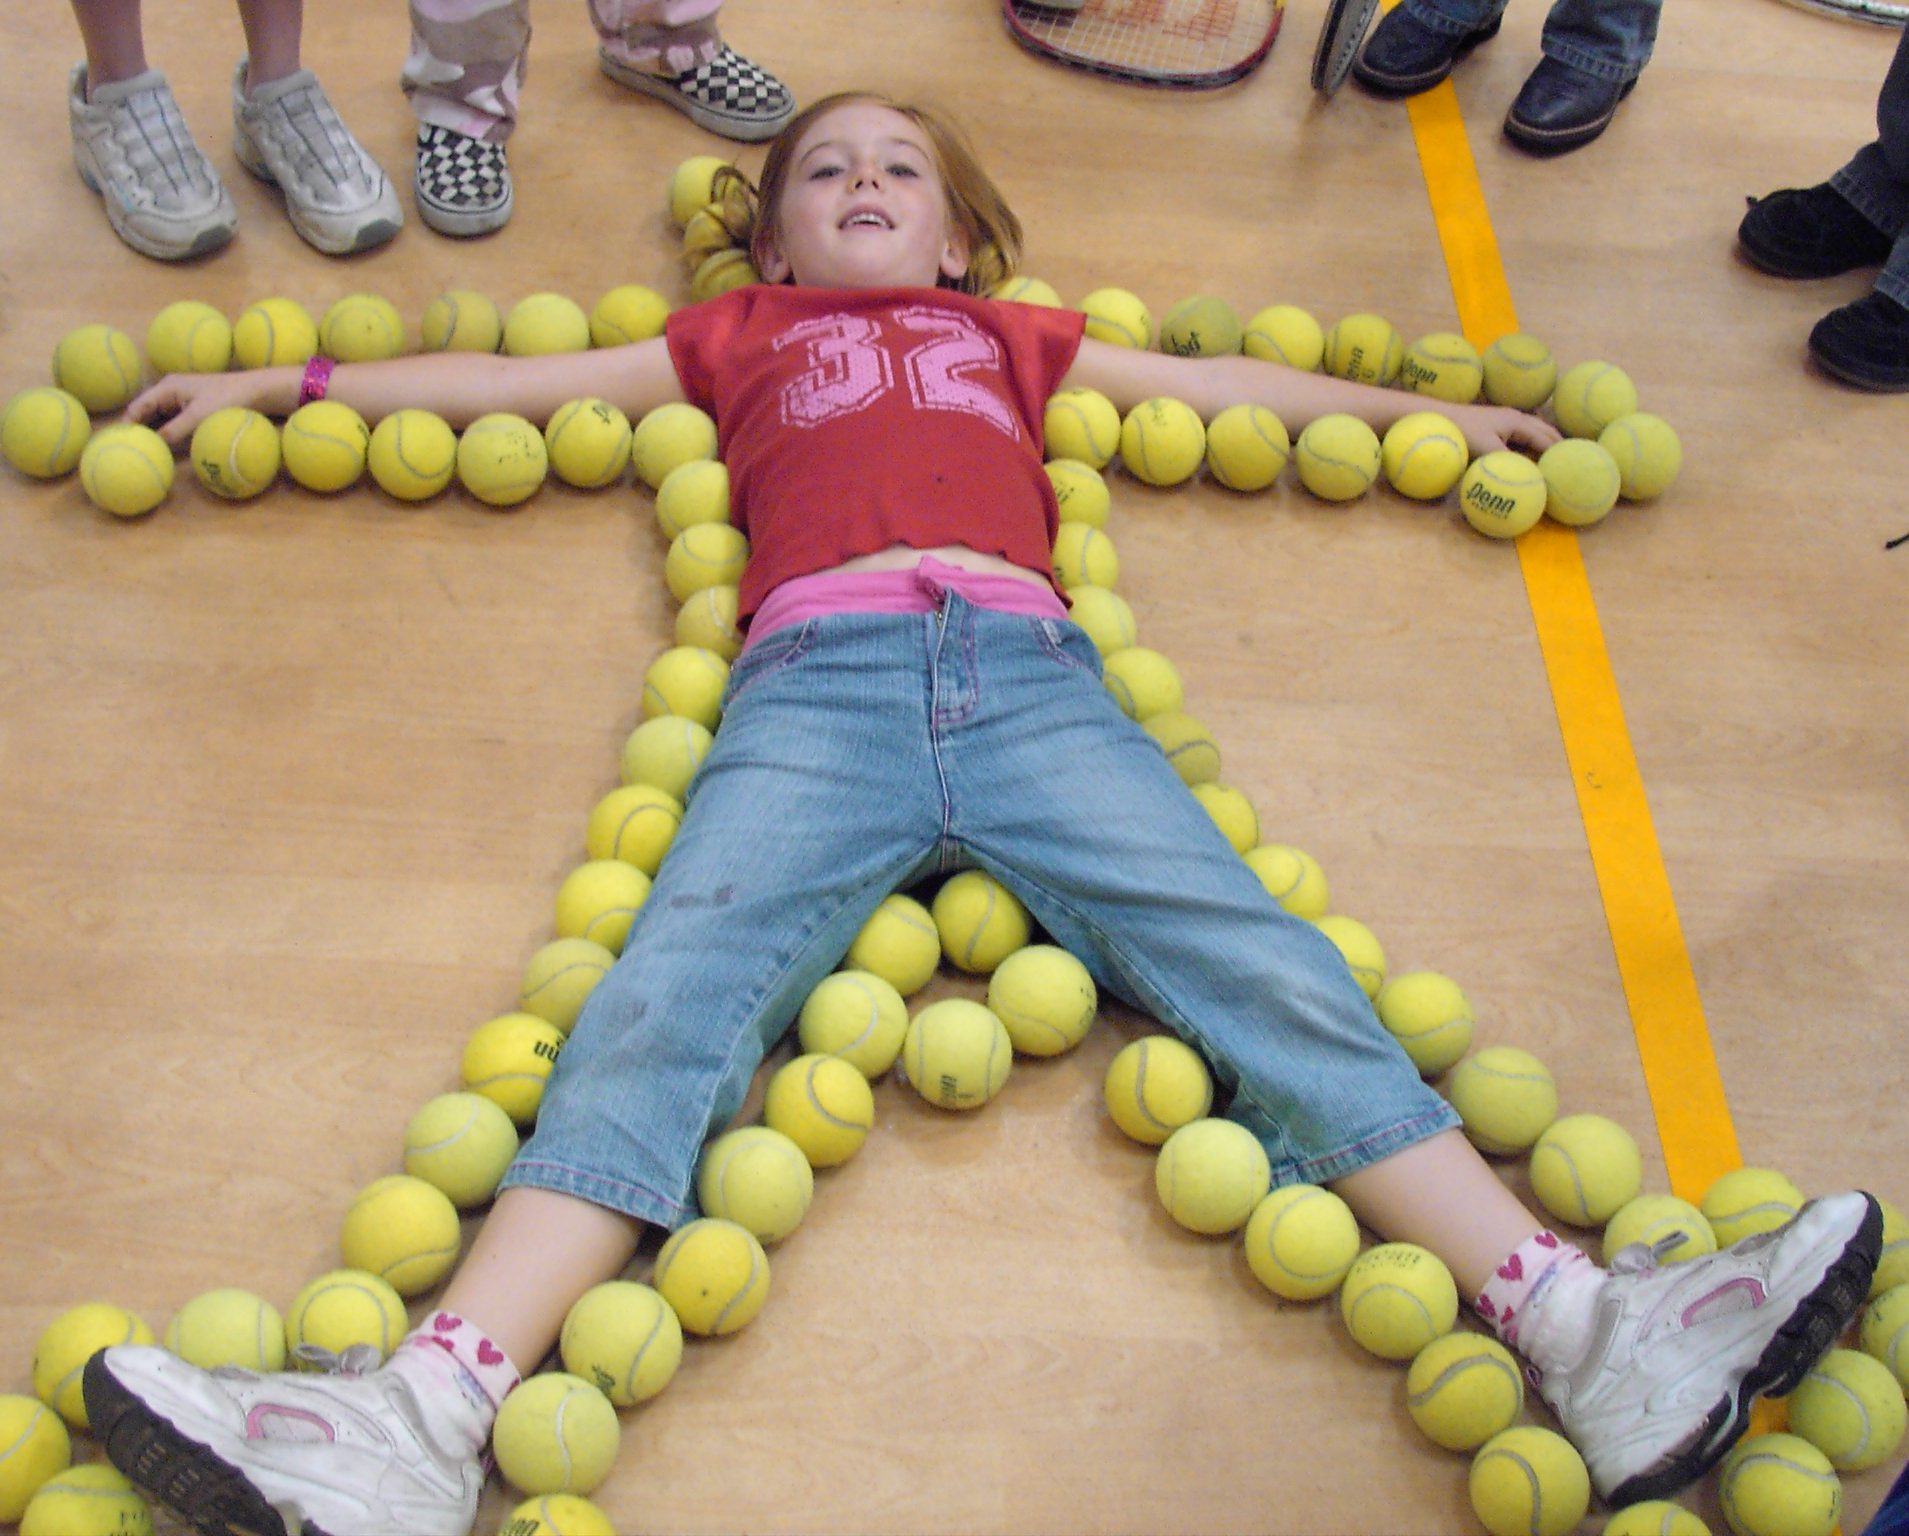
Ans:
MULTIPOLYGON (((1499 240, 1451 84, 1407 103, 1458 322, 1476 347, 1518 330, 1499 240)), ((1535 172, 1537 174, 1537 172, 1535 172)), ((1741 1162, 1670 878, 1630 750, 1577 532, 1539 523, 1518 561, 1544 654, 1670 1189, 1697 1200, 1741 1162)))

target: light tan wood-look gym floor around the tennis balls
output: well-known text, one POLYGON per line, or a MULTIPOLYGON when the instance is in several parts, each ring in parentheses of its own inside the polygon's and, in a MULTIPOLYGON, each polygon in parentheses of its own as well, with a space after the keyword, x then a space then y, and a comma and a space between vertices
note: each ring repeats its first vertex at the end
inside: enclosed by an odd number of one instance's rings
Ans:
MULTIPOLYGON (((412 218, 355 261, 302 246, 233 162, 233 10, 149 11, 241 235, 183 267, 122 248, 67 149, 76 31, 63 6, 8 8, 0 395, 46 382, 69 326, 143 336, 178 298, 368 288, 412 326, 452 284, 687 300, 664 177, 722 145, 603 80, 580 4, 536 6, 512 225, 452 242, 412 218)), ((311 11, 307 61, 410 218, 403 8, 311 11)), ((1256 76, 1189 95, 1038 63, 991 0, 735 0, 725 32, 802 99, 876 84, 949 107, 1067 300, 1455 328, 1407 111, 1308 88, 1321 11, 1294 0, 1256 76)), ((1115 479, 1121 588, 1266 838, 1319 857, 1395 969, 1457 977, 1481 1044, 1537 1051, 1567 1110, 1630 1126, 1649 1187, 1653 1116, 1701 1074, 1653 1103, 1630 1004, 1649 1021, 1688 975, 1701 1015, 1670 1011, 1686 1038, 1707 1025, 1728 1099, 1695 1156, 1728 1164, 1733 1135, 1806 1191, 1909 1204, 1909 548, 1884 548, 1909 532, 1909 403, 1804 363, 1863 277, 1793 286, 1733 256, 1745 193, 1821 179, 1873 134, 1894 34, 1676 0, 1611 132, 1544 164, 1499 135, 1541 19, 1518 0, 1457 101, 1523 328, 1621 364, 1684 435, 1672 494, 1575 546, 1655 843, 1628 820, 1600 893, 1520 553, 1451 504, 1115 479), (1674 910, 1646 901, 1626 1002, 1605 897, 1655 889, 1674 910)), ((464 1036, 550 937, 672 603, 628 487, 493 513, 372 488, 227 506, 181 475, 139 523, 73 479, 6 473, 0 498, 0 1389, 25 1391, 73 1303, 162 1326, 210 1286, 283 1305, 336 1263, 351 1194, 397 1168, 410 1110, 456 1086, 464 1036)), ((1630 758, 1611 716, 1588 740, 1596 811, 1630 758)), ((975 1116, 880 1086, 764 1317, 626 1416, 598 1496, 619 1530, 1474 1528, 1464 1462, 1416 1435, 1401 1372, 1157 1208, 1098 1093, 1145 1027, 1109 1007, 975 1116)), ((1899 1465, 1848 1479, 1846 1530, 1899 1465)), ((1722 1530, 1712 1488, 1691 1502, 1722 1530)), ((493 1490, 483 1528, 506 1507, 493 1490)))

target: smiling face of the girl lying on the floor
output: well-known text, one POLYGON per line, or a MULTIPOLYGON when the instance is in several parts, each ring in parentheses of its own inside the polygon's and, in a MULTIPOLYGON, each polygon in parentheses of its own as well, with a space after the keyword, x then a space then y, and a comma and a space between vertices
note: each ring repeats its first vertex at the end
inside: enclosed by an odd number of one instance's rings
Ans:
POLYGON ((850 101, 804 130, 764 279, 794 273, 811 288, 932 288, 937 277, 958 279, 966 269, 941 170, 911 118, 850 101))

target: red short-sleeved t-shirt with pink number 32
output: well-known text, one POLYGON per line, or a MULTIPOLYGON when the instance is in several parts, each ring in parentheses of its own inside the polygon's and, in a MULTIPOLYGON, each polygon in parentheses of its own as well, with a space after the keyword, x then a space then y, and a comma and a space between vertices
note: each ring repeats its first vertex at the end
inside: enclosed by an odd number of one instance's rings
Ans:
POLYGON ((1084 322, 941 288, 767 284, 670 315, 670 361, 718 422, 750 540, 741 614, 893 544, 966 544, 1052 580, 1040 418, 1084 322))

